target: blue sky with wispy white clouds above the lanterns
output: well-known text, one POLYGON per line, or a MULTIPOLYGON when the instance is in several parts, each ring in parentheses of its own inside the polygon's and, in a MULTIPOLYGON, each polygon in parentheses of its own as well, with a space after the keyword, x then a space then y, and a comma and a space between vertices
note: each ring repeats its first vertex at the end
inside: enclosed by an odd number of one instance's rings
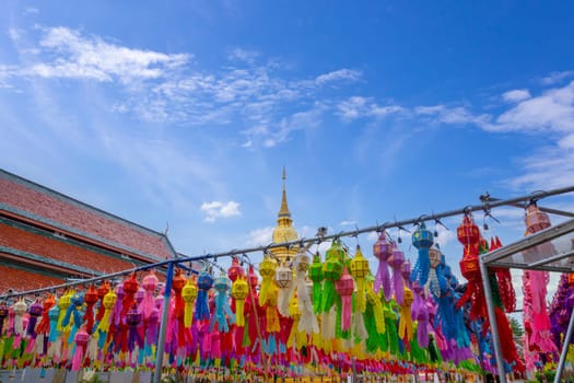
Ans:
MULTIPOLYGON (((0 166, 151 229, 168 224, 186 254, 269 242, 283 165, 304 236, 461 208, 487 190, 571 185, 573 11, 7 1, 0 166)), ((523 211, 494 216, 503 242, 524 235, 523 211)), ((440 236, 455 268, 459 222, 440 236)))

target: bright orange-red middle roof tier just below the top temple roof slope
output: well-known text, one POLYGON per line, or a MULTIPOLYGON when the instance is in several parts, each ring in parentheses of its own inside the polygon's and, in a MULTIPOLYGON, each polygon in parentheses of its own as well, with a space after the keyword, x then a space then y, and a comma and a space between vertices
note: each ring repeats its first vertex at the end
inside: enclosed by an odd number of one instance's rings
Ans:
POLYGON ((85 267, 96 272, 120 271, 134 266, 124 259, 92 252, 56 237, 50 239, 8 224, 0 224, 0 246, 85 267))

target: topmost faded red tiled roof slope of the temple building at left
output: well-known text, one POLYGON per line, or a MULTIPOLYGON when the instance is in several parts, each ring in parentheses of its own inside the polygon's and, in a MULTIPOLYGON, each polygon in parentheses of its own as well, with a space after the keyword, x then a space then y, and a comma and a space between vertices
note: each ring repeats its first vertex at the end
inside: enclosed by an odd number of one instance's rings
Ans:
POLYGON ((173 256, 166 237, 0 170, 0 210, 148 258, 173 256))

